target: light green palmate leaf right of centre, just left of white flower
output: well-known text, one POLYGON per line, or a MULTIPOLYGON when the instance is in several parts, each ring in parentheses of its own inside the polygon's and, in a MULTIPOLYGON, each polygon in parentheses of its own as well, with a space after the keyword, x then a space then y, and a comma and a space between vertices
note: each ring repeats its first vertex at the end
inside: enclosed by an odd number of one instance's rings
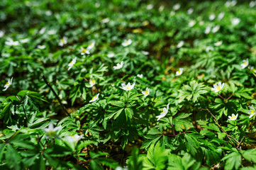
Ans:
POLYGON ((187 101, 192 100, 194 103, 199 100, 199 98, 204 98, 201 94, 206 94, 208 91, 202 83, 198 83, 195 80, 190 81, 189 85, 184 85, 181 90, 179 90, 179 103, 182 103, 185 99, 187 101))

